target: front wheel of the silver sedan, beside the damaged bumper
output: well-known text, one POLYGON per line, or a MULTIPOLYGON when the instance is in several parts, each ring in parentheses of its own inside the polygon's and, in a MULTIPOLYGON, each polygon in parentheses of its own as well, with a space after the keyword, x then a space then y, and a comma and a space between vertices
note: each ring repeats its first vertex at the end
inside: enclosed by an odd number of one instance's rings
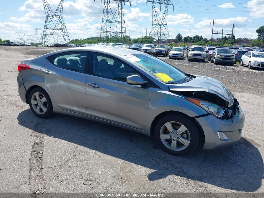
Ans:
POLYGON ((162 150, 172 155, 187 155, 197 147, 200 129, 188 116, 172 113, 158 120, 154 133, 162 150))

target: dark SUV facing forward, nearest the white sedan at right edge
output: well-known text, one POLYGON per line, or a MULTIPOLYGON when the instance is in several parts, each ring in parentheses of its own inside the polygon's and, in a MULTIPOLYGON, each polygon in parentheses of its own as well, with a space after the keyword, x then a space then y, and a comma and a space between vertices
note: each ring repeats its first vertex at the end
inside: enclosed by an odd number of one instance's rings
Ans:
POLYGON ((236 63, 235 56, 232 54, 231 50, 228 48, 215 48, 212 53, 211 63, 229 63, 233 66, 236 63))

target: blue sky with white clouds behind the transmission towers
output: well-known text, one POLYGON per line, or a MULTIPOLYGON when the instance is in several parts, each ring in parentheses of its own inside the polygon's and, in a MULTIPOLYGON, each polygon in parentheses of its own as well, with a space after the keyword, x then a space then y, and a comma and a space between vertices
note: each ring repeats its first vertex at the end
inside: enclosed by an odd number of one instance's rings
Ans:
MULTIPOLYGON (((56 9, 60 0, 47 0, 56 9)), ((214 30, 231 33, 235 22, 236 38, 257 38, 256 29, 264 19, 264 0, 171 0, 174 4, 168 9, 167 26, 170 38, 180 33, 183 37, 202 35, 211 38, 212 21, 214 30)), ((36 40, 35 28, 44 28, 45 11, 42 0, 9 0, 0 8, 0 38, 17 41, 17 32, 26 32, 25 37, 36 40)), ((110 1, 111 8, 116 2, 110 1)), ((104 8, 101 0, 64 0, 63 19, 71 39, 83 39, 100 35, 104 8)), ((125 3, 124 16, 127 35, 132 38, 149 34, 152 26, 152 4, 146 0, 131 0, 125 3)), ((157 6, 163 13, 164 6, 157 6)), ((213 38, 221 35, 214 34, 213 38)))

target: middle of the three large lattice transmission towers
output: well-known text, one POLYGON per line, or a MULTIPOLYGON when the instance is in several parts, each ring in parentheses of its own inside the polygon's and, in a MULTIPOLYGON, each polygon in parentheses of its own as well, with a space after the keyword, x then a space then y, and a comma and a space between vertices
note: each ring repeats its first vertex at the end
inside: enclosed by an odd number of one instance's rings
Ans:
POLYGON ((126 32, 126 25, 124 19, 123 6, 125 2, 130 3, 130 0, 111 0, 115 1, 117 4, 116 10, 110 8, 110 0, 104 1, 104 10, 102 17, 102 26, 100 38, 104 39, 105 42, 108 42, 108 38, 113 36, 118 36, 120 42, 122 42, 122 37, 124 37, 126 32))

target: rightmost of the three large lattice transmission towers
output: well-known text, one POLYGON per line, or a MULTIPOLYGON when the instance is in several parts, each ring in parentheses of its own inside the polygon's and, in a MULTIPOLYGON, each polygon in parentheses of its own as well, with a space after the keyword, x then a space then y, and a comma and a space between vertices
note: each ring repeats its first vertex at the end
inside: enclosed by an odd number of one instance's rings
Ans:
POLYGON ((160 43, 164 40, 166 42, 168 38, 170 38, 167 26, 168 8, 169 6, 173 6, 174 9, 174 5, 170 0, 147 0, 146 8, 147 2, 152 3, 152 27, 149 32, 149 36, 156 38, 157 43, 160 43), (160 5, 160 11, 161 6, 165 6, 165 10, 161 15, 158 13, 159 10, 156 9, 156 4, 160 5))

